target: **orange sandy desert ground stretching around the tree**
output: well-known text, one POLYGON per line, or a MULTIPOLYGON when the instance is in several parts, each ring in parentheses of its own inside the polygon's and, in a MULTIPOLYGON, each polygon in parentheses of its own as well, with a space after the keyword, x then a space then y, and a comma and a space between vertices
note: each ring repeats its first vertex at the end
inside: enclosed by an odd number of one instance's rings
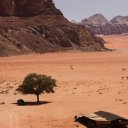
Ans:
POLYGON ((74 116, 109 111, 128 118, 128 36, 103 36, 113 52, 68 52, 0 58, 1 128, 75 128, 74 116), (42 105, 17 106, 16 100, 36 101, 16 94, 28 73, 57 79, 54 94, 40 96, 42 105), (48 102, 48 103, 47 103, 48 102))

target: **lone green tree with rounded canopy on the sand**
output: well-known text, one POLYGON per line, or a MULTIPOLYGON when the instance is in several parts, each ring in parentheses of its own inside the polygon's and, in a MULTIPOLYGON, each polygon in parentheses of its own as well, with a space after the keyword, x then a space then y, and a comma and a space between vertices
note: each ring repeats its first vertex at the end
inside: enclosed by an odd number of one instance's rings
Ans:
POLYGON ((39 103, 39 95, 42 93, 54 93, 54 87, 57 87, 56 80, 52 79, 51 76, 32 73, 25 77, 16 91, 22 94, 35 94, 37 103, 39 103))

